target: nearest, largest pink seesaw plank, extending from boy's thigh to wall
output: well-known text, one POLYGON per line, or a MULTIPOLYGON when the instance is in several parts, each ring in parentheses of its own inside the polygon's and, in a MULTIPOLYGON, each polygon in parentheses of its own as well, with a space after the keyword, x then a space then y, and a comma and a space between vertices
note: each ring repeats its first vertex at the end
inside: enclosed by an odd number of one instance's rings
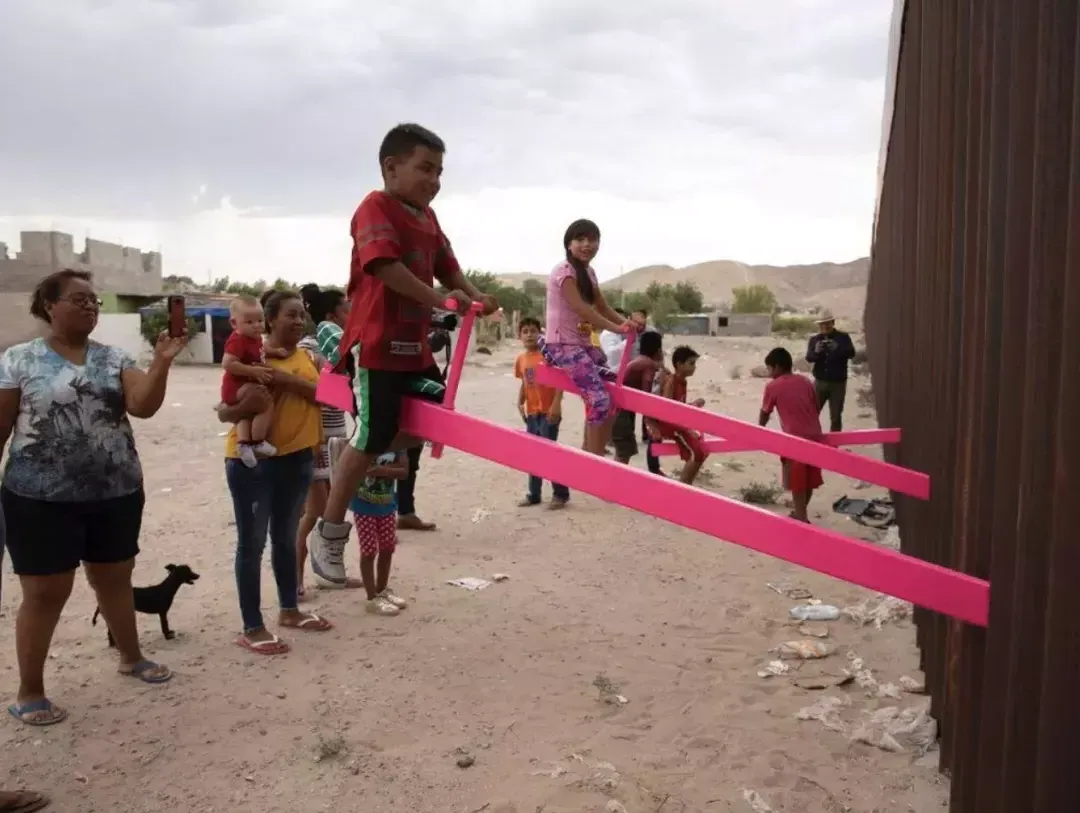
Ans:
POLYGON ((432 443, 986 626, 989 584, 981 579, 416 398, 405 398, 401 426, 432 443))

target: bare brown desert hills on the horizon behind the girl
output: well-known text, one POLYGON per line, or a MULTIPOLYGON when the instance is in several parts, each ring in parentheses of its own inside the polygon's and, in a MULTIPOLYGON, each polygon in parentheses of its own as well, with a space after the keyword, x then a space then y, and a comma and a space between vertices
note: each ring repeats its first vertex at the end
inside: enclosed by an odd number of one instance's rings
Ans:
MULTIPOLYGON (((505 274, 507 285, 522 285, 538 274, 505 274)), ((605 288, 645 290, 651 283, 674 285, 692 282, 711 304, 731 301, 731 289, 740 285, 768 285, 781 304, 821 306, 843 319, 861 320, 869 279, 869 259, 819 262, 812 266, 748 266, 734 260, 712 260, 686 268, 645 266, 604 282, 605 288)))

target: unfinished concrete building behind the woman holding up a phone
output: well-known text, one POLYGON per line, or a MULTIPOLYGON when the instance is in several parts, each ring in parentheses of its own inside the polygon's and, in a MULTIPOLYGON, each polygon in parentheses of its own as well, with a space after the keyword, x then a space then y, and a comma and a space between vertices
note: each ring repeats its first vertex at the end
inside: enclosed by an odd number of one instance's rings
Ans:
POLYGON ((77 253, 72 236, 58 231, 22 232, 14 257, 0 243, 0 349, 40 335, 41 325, 30 315, 30 293, 43 277, 65 268, 94 275, 104 302, 94 338, 141 354, 147 348, 138 309, 163 296, 161 254, 89 238, 77 253))

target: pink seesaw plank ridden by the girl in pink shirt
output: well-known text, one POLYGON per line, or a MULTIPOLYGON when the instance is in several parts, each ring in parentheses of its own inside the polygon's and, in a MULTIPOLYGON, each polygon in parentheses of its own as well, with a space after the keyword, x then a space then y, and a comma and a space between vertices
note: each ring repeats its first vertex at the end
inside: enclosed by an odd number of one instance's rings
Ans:
MULTIPOLYGON (((566 374, 553 367, 536 368, 537 383, 555 387, 566 392, 580 393, 566 374)), ((930 477, 922 472, 904 469, 881 460, 836 449, 825 444, 814 443, 794 435, 785 435, 774 429, 758 426, 719 412, 679 404, 670 398, 644 393, 626 387, 608 384, 608 392, 615 405, 638 415, 647 415, 665 423, 687 429, 696 429, 706 435, 726 441, 753 444, 754 448, 800 463, 815 465, 837 474, 846 474, 854 479, 873 483, 876 486, 917 497, 930 499, 930 477)))

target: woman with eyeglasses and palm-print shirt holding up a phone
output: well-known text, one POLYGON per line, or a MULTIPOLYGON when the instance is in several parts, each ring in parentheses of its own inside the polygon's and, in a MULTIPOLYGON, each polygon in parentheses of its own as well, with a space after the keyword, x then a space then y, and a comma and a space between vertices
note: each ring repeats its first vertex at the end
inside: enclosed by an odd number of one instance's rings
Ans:
POLYGON ((56 623, 80 564, 119 650, 121 675, 172 677, 143 656, 132 570, 143 521, 143 469, 129 416, 150 418, 187 337, 158 337, 140 370, 123 350, 90 338, 102 301, 85 271, 64 270, 33 290, 44 337, 0 356, 0 448, 11 438, 0 487, 6 546, 23 587, 15 622, 18 692, 8 710, 28 726, 67 717, 45 693, 56 623))

